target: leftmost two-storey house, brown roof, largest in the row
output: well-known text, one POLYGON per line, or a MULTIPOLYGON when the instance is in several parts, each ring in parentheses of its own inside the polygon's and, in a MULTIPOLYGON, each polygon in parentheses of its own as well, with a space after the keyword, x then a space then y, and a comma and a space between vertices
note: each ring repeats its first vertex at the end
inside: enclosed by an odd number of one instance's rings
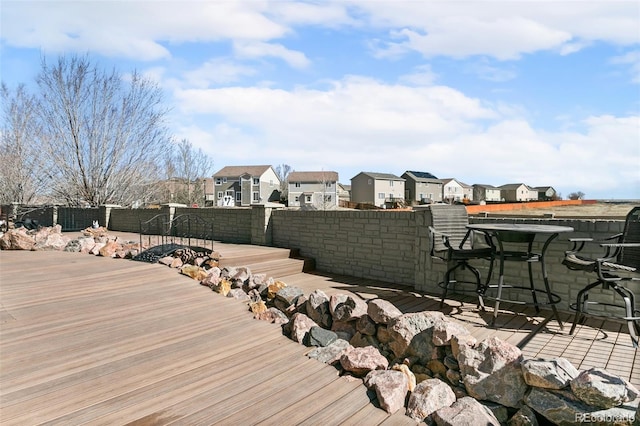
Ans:
POLYGON ((215 206, 243 207, 280 200, 280 179, 271 166, 226 166, 213 175, 215 206))

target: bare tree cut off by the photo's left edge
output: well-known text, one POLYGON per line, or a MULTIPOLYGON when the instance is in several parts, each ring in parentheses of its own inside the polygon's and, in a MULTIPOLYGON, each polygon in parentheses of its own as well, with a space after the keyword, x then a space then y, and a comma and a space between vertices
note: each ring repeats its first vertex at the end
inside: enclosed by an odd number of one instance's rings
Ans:
POLYGON ((37 120, 36 96, 24 85, 10 90, 4 83, 2 139, 0 141, 0 203, 45 201, 49 186, 48 156, 39 149, 42 130, 37 120))

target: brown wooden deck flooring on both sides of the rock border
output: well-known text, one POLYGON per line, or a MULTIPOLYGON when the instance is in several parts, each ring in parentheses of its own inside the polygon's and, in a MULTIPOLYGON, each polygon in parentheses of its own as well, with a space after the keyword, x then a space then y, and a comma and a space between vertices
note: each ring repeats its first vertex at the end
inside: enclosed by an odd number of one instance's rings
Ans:
MULTIPOLYGON (((273 251, 216 249, 228 259, 273 251)), ((261 272, 260 262, 253 271, 261 272)), ((437 298, 371 280, 302 272, 277 278, 306 294, 319 288, 382 297, 404 312, 438 309, 437 298)), ((161 265, 0 251, 0 304, 3 425, 413 424, 377 408, 359 381, 308 359, 308 348, 278 326, 253 320, 244 303, 161 265)), ((622 326, 592 321, 568 336, 568 327, 560 332, 543 316, 504 309, 495 329, 486 326, 491 310, 479 313, 474 303, 448 300, 444 311, 478 339, 497 335, 528 357, 564 356, 640 385, 622 326)))

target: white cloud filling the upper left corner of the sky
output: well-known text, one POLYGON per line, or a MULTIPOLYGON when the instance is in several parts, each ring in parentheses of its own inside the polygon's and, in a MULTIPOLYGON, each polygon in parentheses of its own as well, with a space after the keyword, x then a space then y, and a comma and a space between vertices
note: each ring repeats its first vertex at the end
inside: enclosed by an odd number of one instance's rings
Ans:
POLYGON ((287 27, 267 18, 267 8, 259 1, 6 1, 2 38, 47 52, 155 60, 170 56, 162 43, 282 37, 287 27))

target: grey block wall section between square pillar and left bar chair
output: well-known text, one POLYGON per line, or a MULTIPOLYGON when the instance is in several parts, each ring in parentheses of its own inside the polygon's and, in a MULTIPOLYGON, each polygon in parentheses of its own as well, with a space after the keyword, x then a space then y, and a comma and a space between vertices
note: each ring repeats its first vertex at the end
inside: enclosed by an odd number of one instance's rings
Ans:
POLYGON ((415 284, 411 212, 277 210, 271 221, 273 245, 299 249, 318 270, 415 284))

